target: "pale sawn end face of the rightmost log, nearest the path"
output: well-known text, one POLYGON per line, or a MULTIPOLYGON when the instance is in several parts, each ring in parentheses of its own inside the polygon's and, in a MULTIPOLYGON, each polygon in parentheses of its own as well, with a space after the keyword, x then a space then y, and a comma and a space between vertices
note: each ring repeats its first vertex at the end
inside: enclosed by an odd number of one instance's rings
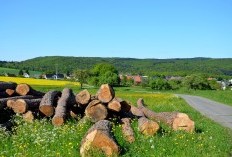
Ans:
POLYGON ((195 123, 185 113, 178 113, 172 123, 173 130, 184 130, 187 132, 193 132, 195 129, 195 123))

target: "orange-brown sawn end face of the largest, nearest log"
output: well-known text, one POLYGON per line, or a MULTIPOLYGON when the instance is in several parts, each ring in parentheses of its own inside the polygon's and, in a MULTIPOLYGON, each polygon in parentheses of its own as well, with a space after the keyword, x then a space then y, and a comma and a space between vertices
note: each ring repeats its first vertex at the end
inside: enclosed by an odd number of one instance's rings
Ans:
POLYGON ((119 154, 118 145, 101 130, 94 130, 85 137, 80 148, 81 156, 88 156, 88 150, 91 148, 100 149, 106 156, 119 154))

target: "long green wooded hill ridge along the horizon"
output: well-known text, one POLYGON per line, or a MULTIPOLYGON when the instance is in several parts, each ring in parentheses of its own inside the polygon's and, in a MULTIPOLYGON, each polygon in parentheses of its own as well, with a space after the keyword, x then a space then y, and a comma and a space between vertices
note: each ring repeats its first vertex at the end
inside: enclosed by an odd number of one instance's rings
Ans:
POLYGON ((21 62, 0 62, 0 66, 42 72, 72 72, 76 69, 92 69, 97 63, 107 62, 124 74, 188 75, 193 73, 209 76, 232 76, 232 58, 186 58, 186 59, 135 59, 100 57, 37 57, 21 62))

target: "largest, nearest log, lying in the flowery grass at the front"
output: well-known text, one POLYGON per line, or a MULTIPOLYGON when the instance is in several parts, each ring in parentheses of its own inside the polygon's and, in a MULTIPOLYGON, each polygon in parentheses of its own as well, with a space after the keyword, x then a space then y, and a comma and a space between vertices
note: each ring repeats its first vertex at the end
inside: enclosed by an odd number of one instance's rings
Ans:
POLYGON ((81 142, 80 155, 90 156, 88 150, 97 148, 106 156, 119 154, 119 146, 111 134, 112 125, 108 120, 100 120, 86 133, 81 142))

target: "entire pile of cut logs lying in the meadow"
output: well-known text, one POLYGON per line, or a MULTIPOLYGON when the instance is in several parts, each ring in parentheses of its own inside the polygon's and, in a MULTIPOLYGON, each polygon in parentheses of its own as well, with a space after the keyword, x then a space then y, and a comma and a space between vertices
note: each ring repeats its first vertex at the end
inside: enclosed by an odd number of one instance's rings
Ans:
POLYGON ((131 127, 131 119, 138 120, 138 130, 144 135, 155 135, 160 123, 173 130, 194 131, 194 121, 185 113, 154 112, 149 110, 142 98, 137 107, 130 102, 115 97, 115 91, 108 84, 103 84, 96 95, 88 90, 77 94, 69 88, 62 91, 43 93, 27 84, 0 82, 0 127, 9 127, 14 114, 22 115, 27 122, 36 118, 52 118, 54 126, 61 126, 68 118, 84 117, 95 123, 83 137, 81 156, 88 156, 90 148, 98 148, 107 156, 117 155, 120 148, 112 135, 112 118, 122 125, 125 140, 133 143, 136 139, 131 127))

